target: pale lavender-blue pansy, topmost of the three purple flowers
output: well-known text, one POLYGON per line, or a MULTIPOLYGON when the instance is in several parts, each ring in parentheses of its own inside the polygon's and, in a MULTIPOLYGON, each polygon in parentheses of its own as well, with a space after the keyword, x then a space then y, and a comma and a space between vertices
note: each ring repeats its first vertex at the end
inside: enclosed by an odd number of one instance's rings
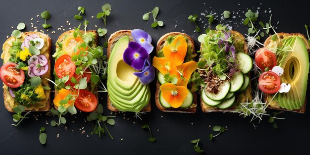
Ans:
POLYGON ((152 38, 148 33, 140 29, 134 29, 131 31, 131 35, 135 42, 144 47, 149 54, 153 51, 154 47, 151 44, 152 38))

